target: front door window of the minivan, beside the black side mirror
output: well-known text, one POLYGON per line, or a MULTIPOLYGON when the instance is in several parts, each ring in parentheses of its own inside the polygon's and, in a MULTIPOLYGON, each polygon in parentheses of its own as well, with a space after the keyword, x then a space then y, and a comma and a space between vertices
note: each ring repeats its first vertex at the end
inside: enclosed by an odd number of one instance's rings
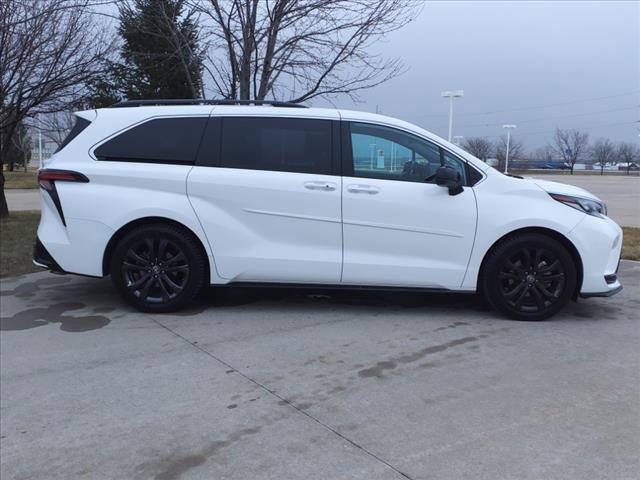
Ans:
POLYGON ((415 135, 395 128, 351 123, 350 138, 355 177, 425 182, 441 165, 450 165, 466 183, 463 161, 415 135))

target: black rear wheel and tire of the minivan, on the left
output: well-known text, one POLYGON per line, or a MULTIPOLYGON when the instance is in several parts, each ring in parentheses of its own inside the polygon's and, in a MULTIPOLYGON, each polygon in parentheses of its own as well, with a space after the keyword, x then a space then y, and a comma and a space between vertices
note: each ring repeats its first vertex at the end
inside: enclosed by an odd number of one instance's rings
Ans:
POLYGON ((186 307, 208 279, 206 256, 198 241, 184 229, 166 224, 127 233, 111 256, 109 271, 125 300, 143 312, 186 307))

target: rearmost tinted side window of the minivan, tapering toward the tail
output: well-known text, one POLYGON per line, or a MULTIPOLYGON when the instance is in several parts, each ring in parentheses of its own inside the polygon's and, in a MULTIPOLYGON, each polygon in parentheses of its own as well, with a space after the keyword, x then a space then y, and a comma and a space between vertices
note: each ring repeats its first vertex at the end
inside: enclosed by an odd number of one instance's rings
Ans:
POLYGON ((98 160, 193 164, 207 117, 158 118, 95 149, 98 160))

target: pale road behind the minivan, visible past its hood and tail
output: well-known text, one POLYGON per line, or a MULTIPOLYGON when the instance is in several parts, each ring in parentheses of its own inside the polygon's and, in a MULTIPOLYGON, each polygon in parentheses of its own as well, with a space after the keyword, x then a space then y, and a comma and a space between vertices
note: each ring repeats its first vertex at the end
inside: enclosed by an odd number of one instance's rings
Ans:
MULTIPOLYGON (((586 188, 607 203, 609 216, 620 225, 640 227, 640 177, 638 176, 539 175, 539 178, 586 188)), ((37 189, 7 190, 6 195, 9 210, 40 209, 37 189)))

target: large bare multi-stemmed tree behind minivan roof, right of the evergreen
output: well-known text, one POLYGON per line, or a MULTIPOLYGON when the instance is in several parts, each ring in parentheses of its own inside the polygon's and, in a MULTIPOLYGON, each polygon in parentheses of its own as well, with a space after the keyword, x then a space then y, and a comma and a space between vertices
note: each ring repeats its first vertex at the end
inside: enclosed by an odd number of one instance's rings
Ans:
POLYGON ((203 31, 205 71, 217 95, 303 102, 379 85, 403 71, 372 44, 410 22, 412 0, 191 0, 203 31), (207 37, 208 35, 208 37, 207 37))

